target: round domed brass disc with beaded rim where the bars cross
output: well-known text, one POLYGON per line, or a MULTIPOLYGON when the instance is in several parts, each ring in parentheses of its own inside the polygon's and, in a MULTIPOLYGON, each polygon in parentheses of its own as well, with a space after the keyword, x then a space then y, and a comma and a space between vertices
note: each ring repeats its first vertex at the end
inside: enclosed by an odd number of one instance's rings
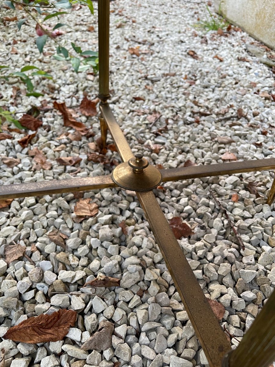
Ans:
POLYGON ((146 168, 140 166, 136 169, 134 162, 135 158, 132 158, 128 162, 115 167, 112 172, 112 179, 118 186, 132 191, 148 191, 161 183, 161 174, 157 168, 144 164, 146 168))

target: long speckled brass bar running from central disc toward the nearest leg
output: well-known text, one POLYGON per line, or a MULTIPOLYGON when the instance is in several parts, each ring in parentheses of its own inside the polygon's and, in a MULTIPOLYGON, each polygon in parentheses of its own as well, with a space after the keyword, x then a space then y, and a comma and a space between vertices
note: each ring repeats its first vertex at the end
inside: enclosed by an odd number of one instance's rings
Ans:
MULTIPOLYGON (((210 367, 221 367, 230 343, 209 306, 180 245, 151 191, 136 192, 210 367)), ((240 367, 240 366, 239 366, 240 367)))

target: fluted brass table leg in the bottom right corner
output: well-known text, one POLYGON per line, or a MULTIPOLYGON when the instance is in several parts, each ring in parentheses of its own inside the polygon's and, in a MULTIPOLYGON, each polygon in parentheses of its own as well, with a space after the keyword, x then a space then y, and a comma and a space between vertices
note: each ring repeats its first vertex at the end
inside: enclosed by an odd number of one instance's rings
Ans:
POLYGON ((275 291, 229 355, 229 367, 268 367, 275 360, 275 291))

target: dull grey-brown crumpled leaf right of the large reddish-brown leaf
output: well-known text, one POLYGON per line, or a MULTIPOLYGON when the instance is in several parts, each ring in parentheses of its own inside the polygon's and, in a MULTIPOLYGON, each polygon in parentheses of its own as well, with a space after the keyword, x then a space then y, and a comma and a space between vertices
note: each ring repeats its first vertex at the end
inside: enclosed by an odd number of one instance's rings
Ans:
POLYGON ((106 350, 112 346, 112 335, 114 331, 114 324, 110 321, 101 321, 99 328, 91 338, 84 342, 81 346, 83 350, 106 350))

